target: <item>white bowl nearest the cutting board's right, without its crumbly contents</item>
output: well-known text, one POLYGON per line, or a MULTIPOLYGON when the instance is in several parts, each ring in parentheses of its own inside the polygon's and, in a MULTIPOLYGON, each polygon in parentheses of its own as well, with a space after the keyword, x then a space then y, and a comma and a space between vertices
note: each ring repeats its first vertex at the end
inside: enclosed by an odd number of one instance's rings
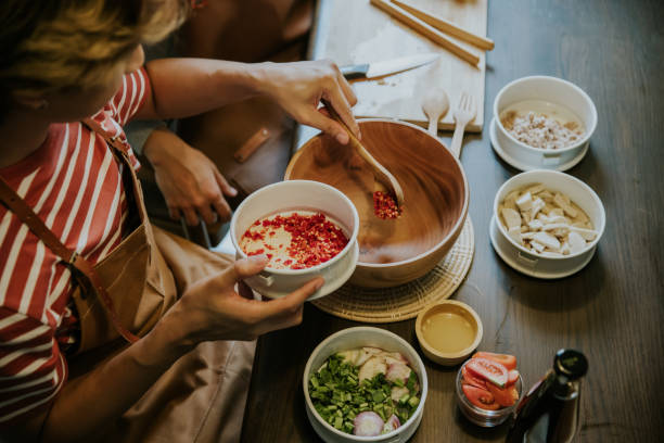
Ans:
POLYGON ((590 137, 597 127, 597 110, 590 97, 570 81, 546 76, 523 77, 505 86, 496 96, 491 125, 495 125, 495 140, 491 140, 491 144, 510 165, 521 170, 566 170, 586 154, 590 137), (539 100, 553 109, 563 106, 572 111, 584 125, 584 137, 567 148, 557 150, 533 148, 516 140, 500 123, 500 113, 511 104, 524 100, 539 100))

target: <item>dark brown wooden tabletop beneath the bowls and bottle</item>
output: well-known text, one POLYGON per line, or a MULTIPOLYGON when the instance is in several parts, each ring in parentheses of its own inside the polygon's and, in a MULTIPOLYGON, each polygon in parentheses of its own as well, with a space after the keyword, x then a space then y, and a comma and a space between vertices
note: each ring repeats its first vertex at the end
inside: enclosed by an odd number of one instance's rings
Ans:
MULTIPOLYGON (((322 17, 324 20, 324 17, 322 17)), ((471 186, 475 257, 461 292, 484 322, 483 350, 510 352, 527 385, 564 346, 583 350, 577 441, 660 441, 664 422, 664 12, 657 1, 489 2, 487 123, 510 80, 532 74, 566 78, 592 98, 599 125, 588 155, 570 174, 600 195, 606 230, 575 276, 525 277, 507 266, 488 238, 498 187, 518 173, 493 152, 488 125, 468 136, 462 163, 471 186), (477 288, 480 294, 469 290, 477 288)), ((449 142, 450 134, 444 139, 449 142)), ((302 377, 314 347, 358 324, 305 308, 299 327, 264 336, 254 367, 243 442, 317 442, 305 414, 302 377)), ((417 347, 414 320, 384 325, 417 347)), ((501 441, 506 427, 469 423, 454 398, 456 368, 426 362, 430 393, 413 442, 501 441)))

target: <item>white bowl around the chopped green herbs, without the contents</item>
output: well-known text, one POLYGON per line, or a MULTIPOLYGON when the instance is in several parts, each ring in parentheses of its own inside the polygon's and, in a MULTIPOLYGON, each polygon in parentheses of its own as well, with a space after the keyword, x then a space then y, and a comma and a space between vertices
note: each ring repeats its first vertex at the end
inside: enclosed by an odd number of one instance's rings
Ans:
POLYGON ((426 378, 426 369, 418 353, 410 344, 399 336, 380 328, 360 326, 356 328, 343 329, 333 333, 323 340, 311 353, 307 360, 303 377, 303 389, 305 395, 305 407, 307 417, 314 427, 316 433, 328 443, 349 443, 349 442, 383 442, 396 443, 406 442, 412 436, 414 431, 422 421, 424 413, 424 403, 429 392, 429 380, 426 378), (400 352, 409 363, 409 366, 417 374, 420 387, 420 404, 412 416, 400 427, 392 432, 378 436, 357 436, 342 432, 330 426, 327 421, 320 418, 314 403, 309 396, 309 378, 311 374, 317 371, 325 359, 340 351, 352 350, 361 346, 380 347, 388 352, 400 352))

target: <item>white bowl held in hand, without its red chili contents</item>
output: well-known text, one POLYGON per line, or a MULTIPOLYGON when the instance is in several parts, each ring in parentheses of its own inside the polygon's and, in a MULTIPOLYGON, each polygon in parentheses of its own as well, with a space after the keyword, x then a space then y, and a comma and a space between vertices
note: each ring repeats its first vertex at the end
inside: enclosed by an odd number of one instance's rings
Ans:
POLYGON ((233 213, 230 237, 237 258, 246 258, 239 240, 257 219, 284 211, 316 211, 325 214, 340 225, 348 238, 348 244, 334 257, 306 269, 265 268, 260 274, 245 279, 255 291, 269 298, 284 296, 307 281, 323 277, 324 284, 308 300, 327 295, 353 275, 359 248, 357 232, 359 217, 353 202, 331 186, 310 180, 280 181, 268 185, 248 195, 233 213))

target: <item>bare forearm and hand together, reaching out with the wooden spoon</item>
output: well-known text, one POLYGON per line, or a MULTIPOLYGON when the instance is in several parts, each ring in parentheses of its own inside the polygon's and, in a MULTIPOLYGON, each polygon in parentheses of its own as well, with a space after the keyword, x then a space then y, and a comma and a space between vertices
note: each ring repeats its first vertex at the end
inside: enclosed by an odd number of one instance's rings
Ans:
POLYGON ((319 112, 325 99, 360 137, 350 106, 357 98, 331 61, 237 63, 206 59, 163 59, 145 66, 152 92, 137 119, 178 118, 210 111, 254 96, 267 96, 303 125, 314 126, 345 144, 344 127, 319 112))

